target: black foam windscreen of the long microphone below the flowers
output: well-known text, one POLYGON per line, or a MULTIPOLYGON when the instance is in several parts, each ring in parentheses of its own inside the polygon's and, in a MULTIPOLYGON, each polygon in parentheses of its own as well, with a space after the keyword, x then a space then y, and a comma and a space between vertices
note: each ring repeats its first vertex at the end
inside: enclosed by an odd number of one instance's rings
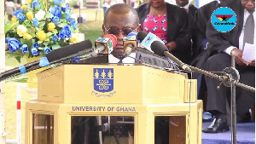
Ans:
POLYGON ((70 55, 77 54, 79 51, 90 48, 92 48, 92 43, 88 39, 79 43, 74 43, 66 47, 62 47, 60 49, 55 49, 45 56, 47 57, 49 62, 52 62, 55 60, 60 60, 70 55))

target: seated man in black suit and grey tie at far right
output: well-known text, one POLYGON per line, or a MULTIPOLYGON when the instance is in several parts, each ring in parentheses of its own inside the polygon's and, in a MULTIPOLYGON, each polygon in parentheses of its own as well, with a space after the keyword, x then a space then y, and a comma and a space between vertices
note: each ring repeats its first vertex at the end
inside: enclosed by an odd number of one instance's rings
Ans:
MULTIPOLYGON (((209 22, 207 25, 207 39, 213 44, 210 48, 214 53, 206 63, 209 72, 222 72, 231 66, 231 52, 236 55, 236 69, 240 73, 240 83, 255 87, 255 59, 246 61, 242 59, 245 43, 254 44, 255 25, 253 18, 255 0, 232 0, 221 6, 228 6, 236 13, 236 26, 230 32, 218 32, 209 22)), ((218 133, 229 130, 226 120, 226 100, 230 97, 230 88, 224 84, 216 89, 220 82, 217 79, 206 77, 207 82, 207 111, 215 116, 212 124, 203 132, 218 133)), ((250 121, 248 110, 255 101, 255 94, 236 87, 237 122, 250 121)))

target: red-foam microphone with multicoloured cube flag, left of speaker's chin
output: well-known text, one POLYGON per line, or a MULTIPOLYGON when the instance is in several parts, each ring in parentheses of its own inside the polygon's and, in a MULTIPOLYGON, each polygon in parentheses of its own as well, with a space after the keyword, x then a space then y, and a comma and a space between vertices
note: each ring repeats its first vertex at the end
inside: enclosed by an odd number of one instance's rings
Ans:
POLYGON ((101 54, 111 54, 113 51, 113 47, 115 47, 116 45, 117 37, 115 37, 113 34, 106 34, 103 37, 98 37, 95 41, 95 47, 96 49, 101 51, 101 54))

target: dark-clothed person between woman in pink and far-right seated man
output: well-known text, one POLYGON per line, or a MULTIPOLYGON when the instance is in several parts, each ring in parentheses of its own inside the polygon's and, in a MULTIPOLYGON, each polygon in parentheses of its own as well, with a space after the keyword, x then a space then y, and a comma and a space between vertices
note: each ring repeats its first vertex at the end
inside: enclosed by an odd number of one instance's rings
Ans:
MULTIPOLYGON (((209 57, 207 49, 207 23, 210 20, 212 13, 217 9, 219 3, 224 3, 227 0, 215 0, 211 3, 207 3, 195 12, 195 18, 193 21, 195 41, 193 40, 192 59, 191 66, 204 69, 205 63, 209 57)), ((197 98, 199 100, 206 99, 207 84, 202 74, 194 73, 193 77, 197 79, 197 98)), ((204 102, 204 107, 206 106, 204 102)), ((211 117, 211 116, 210 116, 211 117)))

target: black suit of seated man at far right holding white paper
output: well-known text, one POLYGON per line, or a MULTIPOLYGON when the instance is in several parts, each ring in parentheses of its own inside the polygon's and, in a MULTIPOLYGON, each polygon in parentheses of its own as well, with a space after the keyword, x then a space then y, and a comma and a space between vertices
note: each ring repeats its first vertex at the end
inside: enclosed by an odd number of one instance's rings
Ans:
MULTIPOLYGON (((239 37, 243 25, 244 9, 241 7, 241 0, 233 0, 229 3, 221 3, 220 6, 229 6, 236 13, 237 23, 230 32, 217 32, 210 22, 207 25, 207 39, 212 44, 212 56, 207 60, 207 71, 218 72, 230 66, 230 55, 223 52, 230 46, 239 47, 239 37)), ((255 67, 236 66, 240 72, 240 82, 255 87, 255 67)), ((222 85, 216 89, 219 82, 216 79, 206 77, 207 81, 207 110, 226 113, 226 97, 229 98, 230 88, 222 85)), ((255 101, 255 94, 236 87, 236 109, 237 116, 243 117, 255 101)))

